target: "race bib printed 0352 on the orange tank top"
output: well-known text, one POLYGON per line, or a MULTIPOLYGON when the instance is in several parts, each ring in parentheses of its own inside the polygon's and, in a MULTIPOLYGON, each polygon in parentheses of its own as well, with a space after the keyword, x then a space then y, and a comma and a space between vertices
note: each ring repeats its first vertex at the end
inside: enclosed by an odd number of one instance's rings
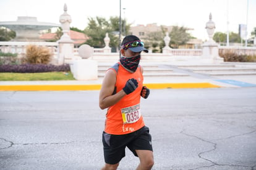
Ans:
POLYGON ((140 104, 136 104, 135 106, 130 106, 128 108, 122 108, 122 121, 124 124, 132 124, 134 122, 139 121, 141 113, 140 113, 140 104))

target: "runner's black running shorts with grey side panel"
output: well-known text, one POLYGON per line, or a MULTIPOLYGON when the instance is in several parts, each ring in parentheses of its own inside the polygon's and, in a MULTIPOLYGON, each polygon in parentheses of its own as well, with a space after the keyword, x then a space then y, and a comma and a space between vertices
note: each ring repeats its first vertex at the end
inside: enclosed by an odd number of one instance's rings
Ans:
POLYGON ((126 147, 129 148, 135 156, 138 156, 135 150, 151 150, 151 135, 148 127, 125 135, 111 135, 103 132, 102 142, 104 149, 105 163, 117 164, 126 156, 126 147))

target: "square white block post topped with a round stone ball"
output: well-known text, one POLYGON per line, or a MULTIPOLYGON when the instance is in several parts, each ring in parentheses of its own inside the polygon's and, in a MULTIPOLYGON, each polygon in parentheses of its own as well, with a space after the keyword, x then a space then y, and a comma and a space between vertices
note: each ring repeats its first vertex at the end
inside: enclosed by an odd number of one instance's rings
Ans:
POLYGON ((76 80, 97 80, 98 64, 93 59, 88 59, 93 54, 93 48, 89 45, 79 47, 79 56, 82 59, 74 60, 72 74, 76 80))

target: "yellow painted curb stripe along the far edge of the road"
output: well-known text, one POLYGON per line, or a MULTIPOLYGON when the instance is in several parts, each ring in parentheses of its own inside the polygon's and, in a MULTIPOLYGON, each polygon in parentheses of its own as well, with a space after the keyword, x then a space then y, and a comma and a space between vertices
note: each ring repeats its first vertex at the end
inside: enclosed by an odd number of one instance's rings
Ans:
MULTIPOLYGON (((163 88, 218 88, 211 83, 145 83, 150 89, 163 88)), ((0 91, 73 91, 100 90, 100 84, 91 85, 0 85, 0 91)))

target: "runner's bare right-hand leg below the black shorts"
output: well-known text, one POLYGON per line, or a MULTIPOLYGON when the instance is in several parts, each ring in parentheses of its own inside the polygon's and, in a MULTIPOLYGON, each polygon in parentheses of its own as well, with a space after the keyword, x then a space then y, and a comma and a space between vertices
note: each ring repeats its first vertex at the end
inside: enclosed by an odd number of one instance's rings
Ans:
POLYGON ((150 150, 135 150, 140 158, 140 164, 137 170, 150 170, 154 165, 153 151, 150 150))

